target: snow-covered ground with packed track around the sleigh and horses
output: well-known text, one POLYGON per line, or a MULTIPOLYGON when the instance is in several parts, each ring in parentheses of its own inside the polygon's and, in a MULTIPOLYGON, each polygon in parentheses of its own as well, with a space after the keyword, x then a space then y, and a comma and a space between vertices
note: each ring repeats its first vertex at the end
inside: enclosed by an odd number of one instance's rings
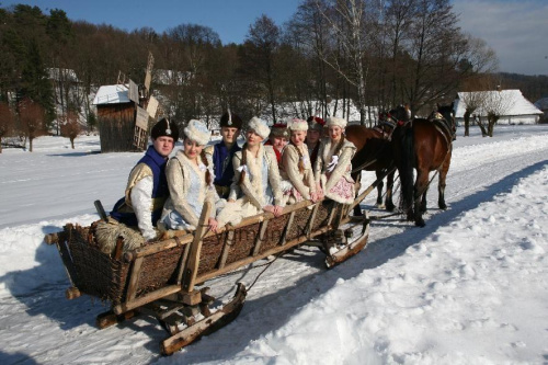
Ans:
MULTIPOLYGON (((459 130, 461 133, 461 130, 459 130)), ((95 220, 122 196, 140 153, 99 153, 96 137, 41 137, 0 155, 0 364, 546 364, 548 126, 461 136, 449 208, 426 227, 373 221, 369 243, 330 271, 313 248, 276 260, 229 326, 171 357, 149 318, 98 330, 106 305, 65 299, 69 286, 44 233, 95 220)), ((364 174, 373 181, 372 173, 364 174)), ((434 180, 437 182, 437 180, 434 180)), ((363 204, 372 214, 374 194, 363 204)), ((264 267, 212 283, 229 298, 264 267)))

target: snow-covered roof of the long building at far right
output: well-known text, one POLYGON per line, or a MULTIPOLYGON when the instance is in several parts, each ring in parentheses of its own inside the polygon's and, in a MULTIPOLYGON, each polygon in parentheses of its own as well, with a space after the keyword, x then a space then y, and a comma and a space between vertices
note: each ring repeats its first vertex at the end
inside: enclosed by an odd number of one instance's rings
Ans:
MULTIPOLYGON (((538 107, 533 105, 527 99, 524 98, 522 92, 517 89, 513 90, 501 90, 501 91, 472 91, 472 92, 459 92, 458 99, 456 101, 455 117, 461 118, 466 111, 466 100, 473 99, 472 94, 481 93, 481 98, 490 99, 499 93, 501 96, 501 104, 507 105, 507 110, 504 115, 534 115, 543 114, 538 107)), ((487 112, 480 106, 475 114, 487 115, 487 112)))

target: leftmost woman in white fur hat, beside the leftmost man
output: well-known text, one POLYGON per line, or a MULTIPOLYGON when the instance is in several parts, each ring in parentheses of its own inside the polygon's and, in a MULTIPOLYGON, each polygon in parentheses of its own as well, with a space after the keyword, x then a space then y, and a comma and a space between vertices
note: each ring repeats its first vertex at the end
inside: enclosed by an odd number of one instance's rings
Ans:
MULTIPOLYGON (((204 202, 214 206, 218 195, 213 185, 213 167, 208 163, 204 146, 209 141, 210 133, 201 121, 192 119, 184 128, 183 149, 171 158, 165 168, 170 197, 163 207, 160 223, 167 229, 195 230, 204 202)), ((215 209, 207 225, 217 230, 215 209)))

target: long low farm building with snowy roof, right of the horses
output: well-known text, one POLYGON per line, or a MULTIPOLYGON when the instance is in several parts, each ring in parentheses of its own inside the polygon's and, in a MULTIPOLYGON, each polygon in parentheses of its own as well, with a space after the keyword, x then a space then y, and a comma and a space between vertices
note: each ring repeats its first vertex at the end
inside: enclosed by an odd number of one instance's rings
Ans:
POLYGON ((500 112, 498 124, 537 124, 543 115, 520 90, 459 92, 455 101, 457 125, 464 124, 466 106, 472 102, 480 105, 473 114, 482 118, 487 117, 489 109, 500 112))

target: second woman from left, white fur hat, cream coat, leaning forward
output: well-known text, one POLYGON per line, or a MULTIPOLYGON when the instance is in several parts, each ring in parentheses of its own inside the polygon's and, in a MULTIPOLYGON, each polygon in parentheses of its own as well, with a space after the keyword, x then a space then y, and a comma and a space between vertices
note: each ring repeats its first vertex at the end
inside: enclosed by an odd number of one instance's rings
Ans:
POLYGON ((237 225, 244 217, 262 212, 283 213, 279 170, 272 146, 263 146, 270 135, 265 122, 253 117, 248 123, 246 144, 232 158, 235 180, 219 223, 237 225))

